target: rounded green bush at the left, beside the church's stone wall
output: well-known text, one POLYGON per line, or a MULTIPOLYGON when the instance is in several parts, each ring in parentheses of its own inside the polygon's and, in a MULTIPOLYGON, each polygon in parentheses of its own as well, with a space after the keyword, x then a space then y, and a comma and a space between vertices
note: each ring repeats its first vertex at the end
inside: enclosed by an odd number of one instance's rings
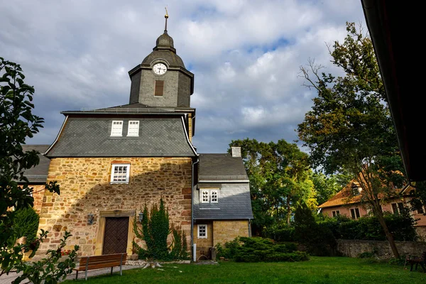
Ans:
POLYGON ((19 209, 13 218, 15 236, 27 237, 27 244, 31 244, 37 237, 38 220, 40 217, 32 207, 19 209))

